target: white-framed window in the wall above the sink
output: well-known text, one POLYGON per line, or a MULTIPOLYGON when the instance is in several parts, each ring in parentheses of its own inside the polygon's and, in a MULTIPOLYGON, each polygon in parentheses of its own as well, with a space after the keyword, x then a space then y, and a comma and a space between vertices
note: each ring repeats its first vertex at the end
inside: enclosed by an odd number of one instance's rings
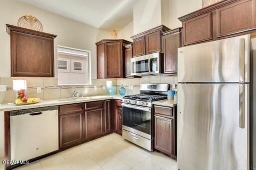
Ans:
POLYGON ((59 85, 90 84, 90 51, 58 46, 59 85))

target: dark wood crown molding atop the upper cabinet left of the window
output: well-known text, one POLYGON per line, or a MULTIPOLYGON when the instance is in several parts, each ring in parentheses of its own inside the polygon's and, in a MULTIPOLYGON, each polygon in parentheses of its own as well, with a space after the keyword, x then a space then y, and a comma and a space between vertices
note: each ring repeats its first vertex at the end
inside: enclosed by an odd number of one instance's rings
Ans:
POLYGON ((37 36, 42 36, 45 38, 52 38, 52 39, 54 39, 57 36, 57 35, 50 34, 50 33, 40 32, 40 31, 36 31, 36 30, 32 30, 32 29, 27 29, 27 28, 22 28, 19 26, 6 24, 6 32, 10 35, 11 31, 28 33, 31 35, 37 35, 37 36))

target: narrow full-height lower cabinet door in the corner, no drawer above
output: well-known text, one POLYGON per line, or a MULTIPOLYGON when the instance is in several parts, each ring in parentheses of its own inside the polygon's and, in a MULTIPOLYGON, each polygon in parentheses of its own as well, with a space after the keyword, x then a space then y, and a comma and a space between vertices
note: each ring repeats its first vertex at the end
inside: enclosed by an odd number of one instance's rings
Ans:
POLYGON ((111 124, 111 101, 104 101, 104 133, 112 131, 111 124))

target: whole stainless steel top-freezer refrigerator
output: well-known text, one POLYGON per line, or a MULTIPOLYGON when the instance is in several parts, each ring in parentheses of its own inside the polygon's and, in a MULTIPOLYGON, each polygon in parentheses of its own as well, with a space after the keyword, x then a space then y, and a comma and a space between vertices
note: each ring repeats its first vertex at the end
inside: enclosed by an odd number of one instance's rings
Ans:
POLYGON ((249 170, 250 35, 178 49, 179 170, 249 170))

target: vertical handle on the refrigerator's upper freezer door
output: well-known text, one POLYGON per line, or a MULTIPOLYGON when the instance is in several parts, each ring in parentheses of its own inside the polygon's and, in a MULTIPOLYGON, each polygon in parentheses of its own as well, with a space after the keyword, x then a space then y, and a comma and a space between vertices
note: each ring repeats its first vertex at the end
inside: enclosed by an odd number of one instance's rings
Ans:
POLYGON ((245 52, 245 39, 239 40, 239 82, 244 82, 244 52, 245 52))

